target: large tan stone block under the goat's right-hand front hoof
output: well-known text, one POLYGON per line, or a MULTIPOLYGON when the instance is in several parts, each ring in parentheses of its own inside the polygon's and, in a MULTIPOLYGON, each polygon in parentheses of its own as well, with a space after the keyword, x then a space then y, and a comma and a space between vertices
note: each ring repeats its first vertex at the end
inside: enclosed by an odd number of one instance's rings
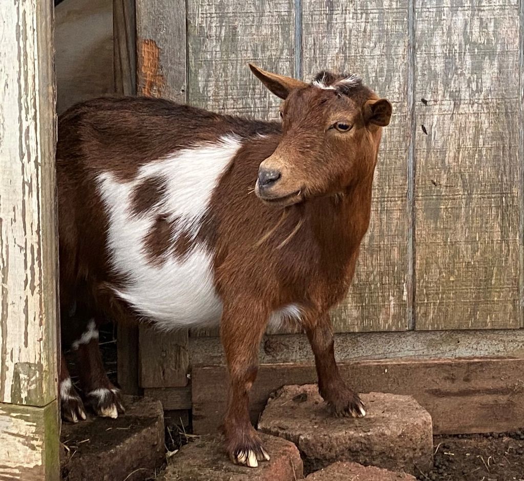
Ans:
POLYGON ((285 386, 269 399, 262 432, 297 445, 306 473, 336 461, 354 461, 419 474, 433 465, 430 414, 410 396, 361 396, 365 418, 335 418, 316 385, 285 386))

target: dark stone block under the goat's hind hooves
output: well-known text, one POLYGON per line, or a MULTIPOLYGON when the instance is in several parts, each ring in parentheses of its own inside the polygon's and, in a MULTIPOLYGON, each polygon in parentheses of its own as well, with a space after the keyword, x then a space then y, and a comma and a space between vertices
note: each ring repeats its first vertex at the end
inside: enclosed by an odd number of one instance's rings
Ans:
POLYGON ((139 481, 165 462, 163 409, 151 398, 124 396, 117 419, 89 416, 62 423, 62 481, 139 481))

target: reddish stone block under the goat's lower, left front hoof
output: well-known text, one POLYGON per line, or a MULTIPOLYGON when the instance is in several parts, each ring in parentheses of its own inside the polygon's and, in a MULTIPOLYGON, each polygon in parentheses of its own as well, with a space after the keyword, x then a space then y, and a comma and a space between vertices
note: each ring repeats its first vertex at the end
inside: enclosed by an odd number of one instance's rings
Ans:
POLYGON ((302 479, 297 447, 281 438, 260 435, 270 461, 257 468, 237 466, 225 453, 219 436, 200 436, 170 457, 157 481, 296 481, 302 479))

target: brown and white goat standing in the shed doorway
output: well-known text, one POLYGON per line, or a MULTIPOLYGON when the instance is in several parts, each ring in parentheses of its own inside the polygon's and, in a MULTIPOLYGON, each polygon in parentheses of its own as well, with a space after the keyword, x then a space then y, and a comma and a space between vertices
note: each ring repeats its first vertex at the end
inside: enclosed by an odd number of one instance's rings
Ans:
MULTIPOLYGON (((365 415, 335 364, 328 312, 353 277, 391 104, 353 75, 304 83, 251 69, 283 99, 281 123, 98 99, 59 119, 57 167, 62 326, 84 401, 101 416, 123 409, 99 352, 104 319, 161 330, 220 322, 226 449, 257 466, 269 456, 248 396, 269 322, 298 322, 322 397, 337 415, 365 415)), ((60 391, 63 416, 85 418, 63 361, 60 391)))

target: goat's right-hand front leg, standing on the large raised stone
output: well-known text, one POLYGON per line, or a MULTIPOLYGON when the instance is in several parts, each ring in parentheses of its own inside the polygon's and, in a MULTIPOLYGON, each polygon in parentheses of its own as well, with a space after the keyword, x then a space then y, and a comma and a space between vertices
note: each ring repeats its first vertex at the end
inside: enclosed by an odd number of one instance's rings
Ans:
POLYGON ((366 415, 364 403, 357 393, 347 387, 335 362, 333 327, 329 315, 306 320, 304 324, 315 356, 320 395, 335 416, 363 418, 366 415))

